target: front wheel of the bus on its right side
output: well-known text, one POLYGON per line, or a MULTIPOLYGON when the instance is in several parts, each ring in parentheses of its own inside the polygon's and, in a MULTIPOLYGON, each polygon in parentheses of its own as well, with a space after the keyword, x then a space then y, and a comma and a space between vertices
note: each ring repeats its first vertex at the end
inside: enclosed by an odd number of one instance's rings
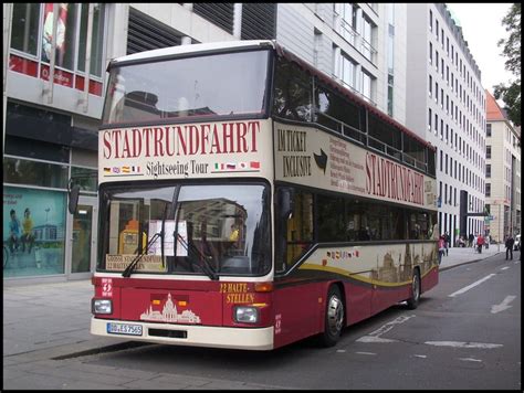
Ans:
POLYGON ((319 337, 323 347, 333 347, 338 342, 344 321, 345 310, 340 290, 338 286, 332 285, 327 291, 324 332, 319 337))

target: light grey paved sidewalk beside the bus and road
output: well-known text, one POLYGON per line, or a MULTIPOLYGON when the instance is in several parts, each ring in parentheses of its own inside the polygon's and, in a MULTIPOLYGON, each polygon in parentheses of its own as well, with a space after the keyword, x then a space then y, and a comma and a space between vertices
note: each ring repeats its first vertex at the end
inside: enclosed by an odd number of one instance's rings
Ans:
MULTIPOLYGON (((501 253, 505 248, 501 245, 501 253)), ((450 248, 441 270, 476 262, 499 253, 496 245, 482 254, 473 248, 450 248)), ((520 255, 520 253, 517 253, 520 255)), ((515 255, 514 255, 515 257, 515 255)), ((518 256, 516 256, 518 257, 518 256)), ((91 279, 3 286, 3 389, 282 389, 241 381, 86 364, 82 358, 53 360, 71 353, 94 354, 123 340, 90 333, 91 279), (163 381, 174 381, 169 385, 163 381)))

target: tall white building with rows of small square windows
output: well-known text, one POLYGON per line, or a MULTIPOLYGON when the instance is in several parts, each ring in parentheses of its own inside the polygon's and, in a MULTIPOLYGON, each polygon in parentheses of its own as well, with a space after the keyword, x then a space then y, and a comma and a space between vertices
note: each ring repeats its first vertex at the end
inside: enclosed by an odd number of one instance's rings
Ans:
POLYGON ((437 147, 440 231, 454 245, 459 236, 484 233, 481 72, 446 4, 409 3, 407 21, 406 125, 437 147))

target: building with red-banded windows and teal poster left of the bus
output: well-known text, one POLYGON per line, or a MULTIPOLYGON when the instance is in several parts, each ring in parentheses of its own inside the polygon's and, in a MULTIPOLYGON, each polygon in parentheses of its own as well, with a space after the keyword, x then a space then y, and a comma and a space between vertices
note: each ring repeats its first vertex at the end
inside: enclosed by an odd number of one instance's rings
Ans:
POLYGON ((3 4, 4 283, 91 276, 107 64, 149 49, 240 39, 234 18, 219 26, 206 12, 205 4, 3 4), (75 214, 71 184, 82 189, 75 214))

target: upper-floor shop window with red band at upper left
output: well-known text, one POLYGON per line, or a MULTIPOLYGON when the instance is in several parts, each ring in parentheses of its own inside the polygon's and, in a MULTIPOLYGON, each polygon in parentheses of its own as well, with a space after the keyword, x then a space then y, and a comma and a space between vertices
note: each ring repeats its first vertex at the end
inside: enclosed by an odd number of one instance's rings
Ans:
POLYGON ((90 92, 102 96, 105 72, 105 4, 14 3, 11 33, 11 70, 34 77, 49 78, 52 57, 54 10, 57 10, 55 44, 55 83, 84 88, 85 51, 90 7, 93 9, 91 34, 90 92), (56 7, 55 7, 56 6, 56 7), (41 64, 43 63, 43 64, 41 64), (94 76, 94 81, 93 81, 94 76))

